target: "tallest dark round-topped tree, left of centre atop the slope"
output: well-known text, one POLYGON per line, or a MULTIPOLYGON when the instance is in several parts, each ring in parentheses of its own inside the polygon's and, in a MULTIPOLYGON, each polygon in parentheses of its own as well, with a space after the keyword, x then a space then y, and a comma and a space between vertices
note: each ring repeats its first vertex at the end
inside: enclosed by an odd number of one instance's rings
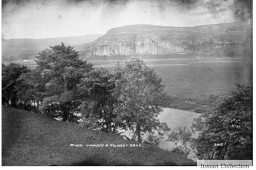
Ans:
POLYGON ((67 121, 69 115, 77 112, 80 105, 77 97, 77 84, 90 70, 92 65, 79 58, 71 46, 50 46, 35 57, 36 69, 40 72, 45 84, 42 111, 54 116, 56 113, 67 121))

